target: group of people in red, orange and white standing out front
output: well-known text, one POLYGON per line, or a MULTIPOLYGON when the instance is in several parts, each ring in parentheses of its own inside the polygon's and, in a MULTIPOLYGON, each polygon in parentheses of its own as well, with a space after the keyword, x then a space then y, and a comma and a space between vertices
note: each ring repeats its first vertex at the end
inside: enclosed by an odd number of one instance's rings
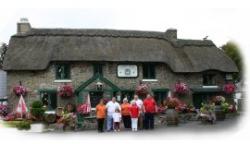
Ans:
POLYGON ((142 101, 137 95, 129 102, 127 98, 123 99, 120 105, 116 98, 104 104, 101 99, 96 106, 97 127, 99 132, 104 132, 104 123, 106 120, 107 131, 120 131, 121 122, 124 128, 137 131, 139 129, 154 129, 154 114, 157 111, 157 105, 154 98, 148 94, 142 101))

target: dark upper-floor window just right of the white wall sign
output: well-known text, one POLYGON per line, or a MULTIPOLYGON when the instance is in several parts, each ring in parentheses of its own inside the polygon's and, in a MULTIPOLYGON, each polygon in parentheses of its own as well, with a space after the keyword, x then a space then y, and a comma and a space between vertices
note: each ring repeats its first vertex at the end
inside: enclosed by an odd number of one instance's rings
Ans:
POLYGON ((143 79, 155 79, 155 65, 143 64, 143 79))

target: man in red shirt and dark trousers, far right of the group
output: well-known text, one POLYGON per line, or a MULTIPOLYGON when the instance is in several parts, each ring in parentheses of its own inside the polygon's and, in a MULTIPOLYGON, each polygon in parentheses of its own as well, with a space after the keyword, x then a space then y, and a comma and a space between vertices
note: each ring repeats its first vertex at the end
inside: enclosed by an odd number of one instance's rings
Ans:
POLYGON ((147 98, 143 101, 144 105, 144 122, 145 122, 145 129, 154 129, 154 114, 157 110, 157 105, 154 98, 147 94, 147 98))

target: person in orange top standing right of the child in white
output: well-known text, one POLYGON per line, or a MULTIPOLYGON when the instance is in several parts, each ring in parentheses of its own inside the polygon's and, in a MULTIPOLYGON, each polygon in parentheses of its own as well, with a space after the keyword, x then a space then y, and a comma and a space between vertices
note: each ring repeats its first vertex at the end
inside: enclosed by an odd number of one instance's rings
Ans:
POLYGON ((123 103, 121 105, 121 112, 124 128, 131 128, 130 104, 128 103, 127 98, 123 99, 123 103))

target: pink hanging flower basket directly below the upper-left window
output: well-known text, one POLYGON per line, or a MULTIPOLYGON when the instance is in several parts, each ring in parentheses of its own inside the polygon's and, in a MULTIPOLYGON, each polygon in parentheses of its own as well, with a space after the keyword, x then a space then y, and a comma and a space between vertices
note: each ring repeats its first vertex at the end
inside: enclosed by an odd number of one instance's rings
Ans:
POLYGON ((74 96, 74 92, 73 92, 73 86, 72 85, 61 85, 58 87, 58 96, 60 97, 73 97, 74 96))

